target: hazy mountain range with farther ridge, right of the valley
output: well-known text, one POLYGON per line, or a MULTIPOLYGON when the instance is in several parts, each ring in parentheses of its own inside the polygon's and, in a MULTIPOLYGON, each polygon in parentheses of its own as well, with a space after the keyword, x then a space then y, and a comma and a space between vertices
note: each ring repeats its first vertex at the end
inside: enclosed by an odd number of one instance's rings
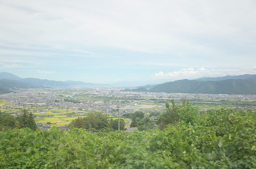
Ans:
POLYGON ((149 89, 148 92, 167 93, 256 94, 256 75, 183 79, 158 85, 138 86, 130 91, 145 92, 145 89, 149 89))

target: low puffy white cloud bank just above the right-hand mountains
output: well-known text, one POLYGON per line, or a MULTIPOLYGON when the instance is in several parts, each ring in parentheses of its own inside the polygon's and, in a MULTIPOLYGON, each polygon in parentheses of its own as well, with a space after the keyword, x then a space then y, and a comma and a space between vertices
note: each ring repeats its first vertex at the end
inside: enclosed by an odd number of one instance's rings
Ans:
POLYGON ((221 76, 235 76, 235 75, 243 75, 243 74, 256 74, 255 66, 252 69, 204 69, 199 68, 194 70, 193 68, 181 69, 178 71, 173 71, 169 73, 159 72, 155 75, 151 75, 150 77, 154 79, 193 79, 199 77, 221 77, 221 76))

